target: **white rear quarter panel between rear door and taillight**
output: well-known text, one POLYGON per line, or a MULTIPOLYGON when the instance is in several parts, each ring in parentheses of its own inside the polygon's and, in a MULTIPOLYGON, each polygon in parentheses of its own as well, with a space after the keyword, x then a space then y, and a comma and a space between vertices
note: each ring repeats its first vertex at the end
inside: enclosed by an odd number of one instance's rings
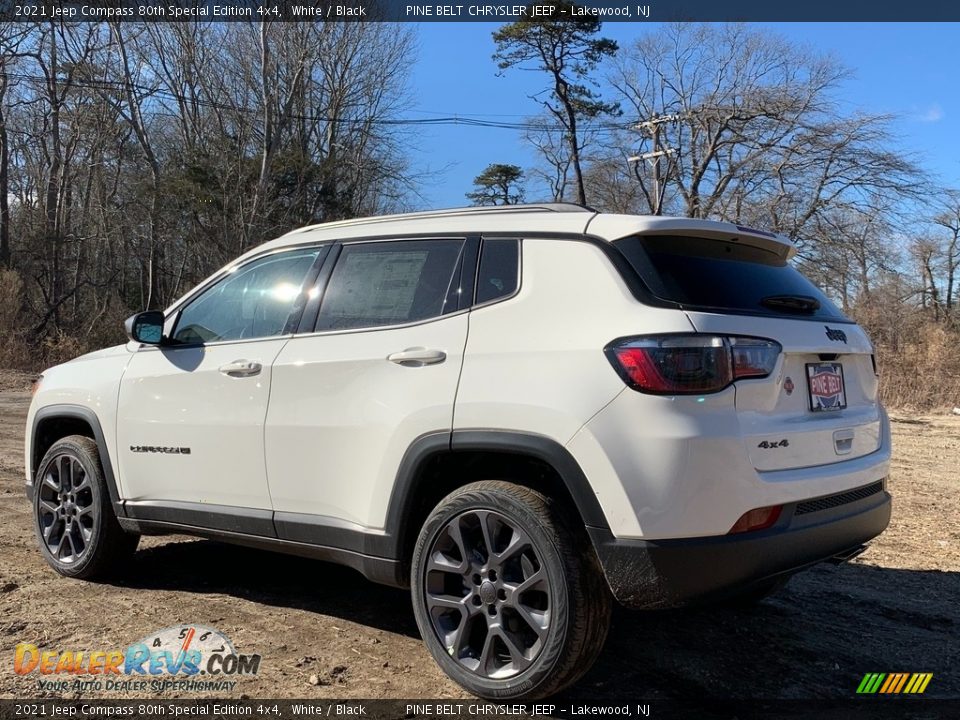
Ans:
POLYGON ((638 305, 595 245, 524 240, 522 255, 519 294, 470 313, 454 429, 516 430, 564 445, 623 390, 607 343, 647 327, 692 327, 683 313, 638 305))

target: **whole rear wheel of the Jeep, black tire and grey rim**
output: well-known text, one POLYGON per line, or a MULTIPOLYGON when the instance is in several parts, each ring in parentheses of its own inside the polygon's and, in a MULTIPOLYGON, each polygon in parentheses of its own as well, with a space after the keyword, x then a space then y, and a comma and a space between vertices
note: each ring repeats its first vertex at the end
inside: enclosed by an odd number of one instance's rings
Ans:
POLYGON ((483 698, 560 692, 593 665, 610 625, 612 598, 583 525, 508 482, 472 483, 437 505, 417 539, 411 591, 430 654, 483 698))

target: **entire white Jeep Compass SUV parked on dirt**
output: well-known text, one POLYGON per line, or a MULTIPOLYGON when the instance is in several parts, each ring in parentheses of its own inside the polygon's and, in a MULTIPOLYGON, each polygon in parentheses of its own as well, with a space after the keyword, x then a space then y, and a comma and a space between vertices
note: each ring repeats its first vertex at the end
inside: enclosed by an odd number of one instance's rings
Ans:
POLYGON ((555 693, 612 599, 756 599, 890 518, 870 341, 789 240, 571 205, 268 242, 46 371, 27 493, 95 578, 189 533, 409 586, 441 668, 555 693))

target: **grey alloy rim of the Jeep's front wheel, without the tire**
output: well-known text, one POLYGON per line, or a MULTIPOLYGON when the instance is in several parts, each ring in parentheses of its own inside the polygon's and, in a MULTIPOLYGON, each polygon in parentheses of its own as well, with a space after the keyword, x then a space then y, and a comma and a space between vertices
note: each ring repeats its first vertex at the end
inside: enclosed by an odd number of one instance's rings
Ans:
POLYGON ((47 551, 58 561, 73 564, 93 541, 97 520, 93 483, 79 460, 57 455, 40 479, 37 520, 47 551))

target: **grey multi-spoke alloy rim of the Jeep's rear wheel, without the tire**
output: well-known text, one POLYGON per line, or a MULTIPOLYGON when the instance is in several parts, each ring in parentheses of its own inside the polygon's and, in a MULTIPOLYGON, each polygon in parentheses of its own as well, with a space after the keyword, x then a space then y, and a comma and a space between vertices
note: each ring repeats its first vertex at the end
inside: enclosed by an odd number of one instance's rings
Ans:
POLYGON ((470 510, 441 528, 424 575, 437 638, 485 678, 522 673, 550 629, 550 584, 529 535, 491 510, 470 510))

